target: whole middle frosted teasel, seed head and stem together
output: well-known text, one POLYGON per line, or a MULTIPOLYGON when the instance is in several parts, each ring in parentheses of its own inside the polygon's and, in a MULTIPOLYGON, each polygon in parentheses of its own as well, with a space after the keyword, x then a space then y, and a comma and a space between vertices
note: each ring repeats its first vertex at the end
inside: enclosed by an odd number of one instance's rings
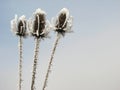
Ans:
POLYGON ((39 43, 41 39, 44 39, 48 36, 50 27, 46 22, 46 13, 40 8, 36 9, 34 12, 34 19, 29 19, 28 26, 31 36, 35 37, 35 53, 34 53, 34 62, 33 62, 33 71, 32 71, 32 82, 31 90, 35 89, 35 77, 36 69, 39 56, 39 43))

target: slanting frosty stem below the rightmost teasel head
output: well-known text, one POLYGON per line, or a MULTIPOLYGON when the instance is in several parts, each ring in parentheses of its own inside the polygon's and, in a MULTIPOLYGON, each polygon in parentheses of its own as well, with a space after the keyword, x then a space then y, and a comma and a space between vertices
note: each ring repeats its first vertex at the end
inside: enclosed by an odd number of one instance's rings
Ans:
POLYGON ((60 39, 60 35, 57 33, 57 36, 56 36, 56 39, 55 39, 55 43, 54 43, 54 46, 53 46, 53 49, 52 49, 52 53, 51 53, 51 56, 50 56, 49 65, 48 65, 48 69, 47 69, 47 73, 46 73, 46 76, 45 76, 45 80, 44 80, 44 84, 43 84, 42 90, 45 90, 45 88, 47 86, 47 81, 48 81, 49 73, 51 71, 51 66, 52 66, 52 62, 53 62, 55 50, 56 50, 56 47, 58 45, 59 39, 60 39))

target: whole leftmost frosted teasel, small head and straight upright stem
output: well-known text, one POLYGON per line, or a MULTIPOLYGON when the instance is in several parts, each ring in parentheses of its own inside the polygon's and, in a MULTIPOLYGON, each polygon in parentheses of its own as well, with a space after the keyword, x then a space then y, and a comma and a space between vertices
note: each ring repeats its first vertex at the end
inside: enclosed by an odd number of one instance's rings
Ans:
POLYGON ((23 63, 23 38, 28 35, 27 33, 27 20, 25 19, 25 16, 21 16, 19 19, 17 15, 15 15, 15 18, 11 20, 11 31, 19 36, 19 82, 18 82, 18 90, 22 89, 22 63, 23 63))

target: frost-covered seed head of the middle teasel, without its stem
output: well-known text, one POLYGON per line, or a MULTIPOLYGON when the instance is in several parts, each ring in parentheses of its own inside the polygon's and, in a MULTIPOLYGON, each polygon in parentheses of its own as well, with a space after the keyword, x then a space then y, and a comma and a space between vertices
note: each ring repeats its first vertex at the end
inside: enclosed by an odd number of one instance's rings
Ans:
POLYGON ((38 8, 33 15, 33 19, 28 22, 30 34, 36 38, 47 37, 50 24, 46 21, 46 13, 38 8))

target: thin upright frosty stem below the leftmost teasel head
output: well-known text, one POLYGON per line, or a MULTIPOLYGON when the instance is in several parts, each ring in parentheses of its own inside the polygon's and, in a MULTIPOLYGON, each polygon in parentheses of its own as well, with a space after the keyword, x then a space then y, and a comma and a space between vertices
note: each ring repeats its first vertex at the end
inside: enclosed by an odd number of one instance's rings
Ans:
POLYGON ((22 37, 19 38, 19 90, 22 87, 22 37))

